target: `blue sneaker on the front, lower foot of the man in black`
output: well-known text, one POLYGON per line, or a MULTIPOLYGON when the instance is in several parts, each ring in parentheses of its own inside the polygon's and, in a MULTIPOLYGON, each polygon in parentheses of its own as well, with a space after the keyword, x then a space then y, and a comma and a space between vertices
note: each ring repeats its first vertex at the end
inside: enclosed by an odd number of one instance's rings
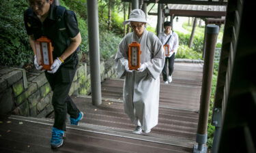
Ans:
POLYGON ((63 137, 65 137, 65 132, 53 127, 51 147, 53 149, 59 148, 63 144, 63 137))

